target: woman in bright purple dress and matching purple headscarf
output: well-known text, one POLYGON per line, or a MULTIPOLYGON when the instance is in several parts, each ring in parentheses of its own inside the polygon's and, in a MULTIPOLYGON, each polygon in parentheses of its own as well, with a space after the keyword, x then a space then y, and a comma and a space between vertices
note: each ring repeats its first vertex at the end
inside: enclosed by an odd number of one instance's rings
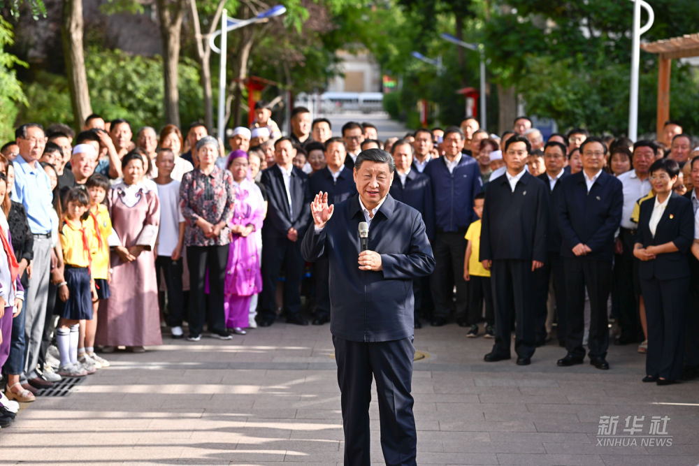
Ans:
POLYGON ((245 335, 248 326, 250 300, 262 291, 257 240, 254 232, 262 228, 264 199, 259 188, 247 179, 247 154, 242 150, 231 152, 228 167, 233 173, 233 219, 231 244, 229 245, 226 283, 224 286, 224 311, 226 328, 238 335, 245 335))

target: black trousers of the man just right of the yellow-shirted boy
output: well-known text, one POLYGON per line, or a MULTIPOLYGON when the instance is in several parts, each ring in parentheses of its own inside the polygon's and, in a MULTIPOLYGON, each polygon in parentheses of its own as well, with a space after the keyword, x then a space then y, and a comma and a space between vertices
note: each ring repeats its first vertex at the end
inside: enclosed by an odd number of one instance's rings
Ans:
POLYGON ((534 274, 532 261, 500 259, 491 267, 495 305, 495 344, 493 353, 510 356, 514 316, 514 351, 520 358, 531 358, 536 349, 534 322, 534 274))

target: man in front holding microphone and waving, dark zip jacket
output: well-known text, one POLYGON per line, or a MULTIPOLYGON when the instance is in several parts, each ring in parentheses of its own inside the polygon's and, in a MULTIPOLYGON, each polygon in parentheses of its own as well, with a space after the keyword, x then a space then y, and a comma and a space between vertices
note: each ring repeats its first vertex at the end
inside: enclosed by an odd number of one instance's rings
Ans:
POLYGON ((314 226, 302 247, 306 260, 327 254, 330 262, 330 330, 342 393, 345 465, 370 464, 372 377, 384 460, 415 465, 412 280, 429 275, 435 261, 420 213, 389 194, 395 166, 388 152, 363 151, 354 167, 359 194, 337 205, 317 194, 314 226), (363 221, 369 224, 368 249, 360 252, 363 221))

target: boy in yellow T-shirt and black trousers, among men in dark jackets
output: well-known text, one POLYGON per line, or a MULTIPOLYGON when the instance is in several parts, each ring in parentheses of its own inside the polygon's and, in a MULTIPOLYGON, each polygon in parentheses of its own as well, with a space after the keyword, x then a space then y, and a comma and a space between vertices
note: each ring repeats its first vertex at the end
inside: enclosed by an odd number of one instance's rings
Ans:
POLYGON ((485 193, 476 194, 473 198, 473 212, 476 212, 478 219, 470 224, 468 231, 466 231, 468 245, 466 246, 466 255, 463 257, 463 279, 470 282, 468 286, 468 323, 470 323, 470 328, 468 333, 466 333, 466 336, 469 338, 478 336, 478 322, 482 315, 483 301, 485 301, 486 338, 493 337, 493 323, 495 323, 493 291, 490 287, 490 270, 486 270, 478 260, 484 203, 485 193))

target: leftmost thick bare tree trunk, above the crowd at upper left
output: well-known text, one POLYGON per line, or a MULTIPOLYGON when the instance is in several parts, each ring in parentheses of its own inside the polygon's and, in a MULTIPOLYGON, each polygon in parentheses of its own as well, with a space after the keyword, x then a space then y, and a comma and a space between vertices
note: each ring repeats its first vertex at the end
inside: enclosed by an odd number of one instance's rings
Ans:
POLYGON ((85 55, 82 52, 82 0, 64 0, 61 36, 66 57, 68 87, 75 118, 75 129, 82 129, 85 118, 92 113, 87 88, 85 55))

